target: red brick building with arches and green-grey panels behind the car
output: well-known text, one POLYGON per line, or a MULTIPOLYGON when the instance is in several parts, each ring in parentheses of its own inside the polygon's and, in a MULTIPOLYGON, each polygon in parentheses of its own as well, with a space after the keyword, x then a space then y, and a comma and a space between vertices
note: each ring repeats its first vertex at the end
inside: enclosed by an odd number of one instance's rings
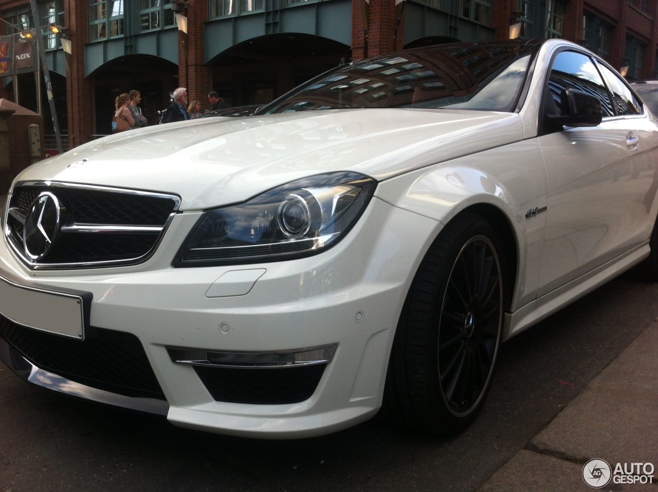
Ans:
MULTIPOLYGON (((178 86, 204 107, 211 90, 228 105, 266 103, 351 59, 508 38, 511 26, 522 38, 577 41, 628 67, 628 78, 651 78, 657 14, 658 0, 0 0, 0 36, 28 42, 43 27, 51 100, 72 148, 108 134, 114 99, 133 89, 155 124, 178 86), (63 32, 51 33, 53 24, 63 32)), ((0 76, 2 67, 0 59, 0 76)), ((4 76, 0 97, 43 114, 53 133, 34 68, 4 76)))

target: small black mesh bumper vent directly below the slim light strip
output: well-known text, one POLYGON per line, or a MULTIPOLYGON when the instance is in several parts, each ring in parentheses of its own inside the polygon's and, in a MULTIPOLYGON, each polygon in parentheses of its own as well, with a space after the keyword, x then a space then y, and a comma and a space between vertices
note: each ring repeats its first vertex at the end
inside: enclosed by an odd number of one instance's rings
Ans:
POLYGON ((220 402, 286 404, 311 398, 326 364, 297 368, 212 368, 194 366, 209 393, 220 402))

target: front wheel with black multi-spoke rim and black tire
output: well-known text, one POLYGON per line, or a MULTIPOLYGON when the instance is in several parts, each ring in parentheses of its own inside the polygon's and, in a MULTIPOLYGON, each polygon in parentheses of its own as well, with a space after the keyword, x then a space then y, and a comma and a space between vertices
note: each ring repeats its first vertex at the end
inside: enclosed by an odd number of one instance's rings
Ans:
POLYGON ((384 414, 422 433, 454 435, 492 385, 507 288, 501 242, 464 213, 434 240, 401 314, 386 376, 384 414))

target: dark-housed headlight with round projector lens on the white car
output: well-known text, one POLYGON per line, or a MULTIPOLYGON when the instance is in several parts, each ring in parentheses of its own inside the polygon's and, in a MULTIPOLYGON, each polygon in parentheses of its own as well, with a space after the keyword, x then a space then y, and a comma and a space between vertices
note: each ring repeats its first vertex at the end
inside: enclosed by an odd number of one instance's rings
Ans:
POLYGON ((357 221, 376 182, 331 173, 274 188, 240 205, 201 216, 174 266, 290 260, 330 248, 357 221))

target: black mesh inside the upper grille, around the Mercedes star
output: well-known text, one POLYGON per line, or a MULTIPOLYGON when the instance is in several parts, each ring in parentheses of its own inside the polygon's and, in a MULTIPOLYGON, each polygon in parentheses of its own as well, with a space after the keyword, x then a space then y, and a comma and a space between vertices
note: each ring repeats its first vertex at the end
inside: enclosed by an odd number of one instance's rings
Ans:
MULTIPOLYGON (((16 186, 10 208, 27 213, 41 192, 48 191, 60 204, 61 225, 120 227, 155 227, 149 232, 69 232, 59 231, 50 250, 38 260, 40 265, 88 263, 136 263, 155 250, 171 214, 176 211, 176 197, 136 194, 116 190, 72 188, 66 186, 16 186)), ((23 251, 23 225, 12 214, 7 219, 11 241, 23 251)), ((27 261, 27 260, 26 260, 27 261)))

